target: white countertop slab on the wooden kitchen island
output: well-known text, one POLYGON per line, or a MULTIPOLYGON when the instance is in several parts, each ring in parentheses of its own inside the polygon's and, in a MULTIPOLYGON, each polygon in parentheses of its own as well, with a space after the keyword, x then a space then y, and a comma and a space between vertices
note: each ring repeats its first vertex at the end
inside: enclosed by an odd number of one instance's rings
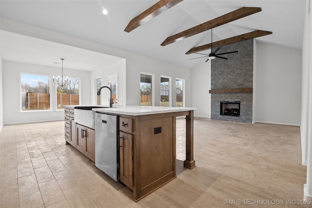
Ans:
POLYGON ((194 111, 196 110, 196 108, 160 107, 160 106, 118 106, 113 108, 96 108, 92 110, 101 113, 114 113, 124 115, 147 115, 157 113, 194 111))

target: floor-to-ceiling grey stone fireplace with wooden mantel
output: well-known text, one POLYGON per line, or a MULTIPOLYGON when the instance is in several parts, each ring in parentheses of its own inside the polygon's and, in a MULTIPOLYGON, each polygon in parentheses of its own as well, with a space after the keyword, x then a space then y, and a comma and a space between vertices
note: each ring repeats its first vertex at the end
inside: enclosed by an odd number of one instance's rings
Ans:
POLYGON ((218 53, 230 51, 238 53, 210 60, 211 119, 252 123, 254 40, 222 46, 218 53))

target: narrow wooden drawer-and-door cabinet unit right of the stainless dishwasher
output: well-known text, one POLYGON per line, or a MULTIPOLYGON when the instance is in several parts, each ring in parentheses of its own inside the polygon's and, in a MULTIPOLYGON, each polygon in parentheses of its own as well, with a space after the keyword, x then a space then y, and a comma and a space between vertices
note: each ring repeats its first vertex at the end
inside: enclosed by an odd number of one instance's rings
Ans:
POLYGON ((119 117, 120 181, 133 188, 133 119, 119 117))

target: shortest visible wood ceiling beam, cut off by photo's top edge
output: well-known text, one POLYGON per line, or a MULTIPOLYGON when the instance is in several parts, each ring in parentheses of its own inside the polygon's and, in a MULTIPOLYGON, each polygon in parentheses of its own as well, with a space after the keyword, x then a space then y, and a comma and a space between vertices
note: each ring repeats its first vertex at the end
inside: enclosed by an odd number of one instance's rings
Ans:
POLYGON ((134 19, 128 23, 127 27, 124 31, 130 32, 137 27, 141 26, 145 22, 155 18, 157 15, 160 15, 164 11, 170 9, 171 7, 175 6, 176 4, 180 3, 182 0, 160 0, 141 14, 139 14, 134 19))

